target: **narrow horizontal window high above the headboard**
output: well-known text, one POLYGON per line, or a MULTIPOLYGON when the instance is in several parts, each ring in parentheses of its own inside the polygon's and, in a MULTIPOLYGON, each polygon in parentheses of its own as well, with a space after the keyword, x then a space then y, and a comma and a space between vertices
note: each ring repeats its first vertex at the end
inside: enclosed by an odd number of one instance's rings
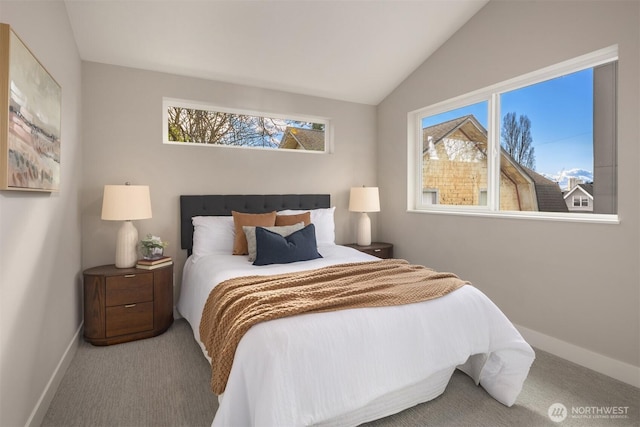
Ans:
POLYGON ((329 121, 163 100, 165 144, 328 151, 329 121))

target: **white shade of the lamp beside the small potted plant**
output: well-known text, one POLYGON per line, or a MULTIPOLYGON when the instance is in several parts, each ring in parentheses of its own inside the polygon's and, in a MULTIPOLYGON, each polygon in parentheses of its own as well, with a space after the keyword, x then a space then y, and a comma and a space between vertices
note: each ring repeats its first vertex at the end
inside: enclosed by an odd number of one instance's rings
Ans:
POLYGON ((105 185, 102 219, 127 221, 151 218, 148 185, 105 185))

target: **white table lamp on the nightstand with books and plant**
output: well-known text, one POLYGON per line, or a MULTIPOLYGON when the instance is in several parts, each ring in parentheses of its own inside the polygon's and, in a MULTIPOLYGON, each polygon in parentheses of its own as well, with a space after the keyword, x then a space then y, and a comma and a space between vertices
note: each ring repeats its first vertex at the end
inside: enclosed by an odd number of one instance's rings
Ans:
POLYGON ((102 219, 123 221, 116 240, 116 267, 134 267, 138 260, 138 230, 131 221, 151 218, 148 185, 105 185, 102 219))

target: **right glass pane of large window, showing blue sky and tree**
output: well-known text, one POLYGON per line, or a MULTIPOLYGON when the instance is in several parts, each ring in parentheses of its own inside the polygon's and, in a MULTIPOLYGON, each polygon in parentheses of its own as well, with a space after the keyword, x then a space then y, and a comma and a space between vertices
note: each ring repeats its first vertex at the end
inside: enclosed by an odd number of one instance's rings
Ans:
POLYGON ((611 178, 594 179, 595 102, 593 68, 501 95, 500 169, 513 182, 507 209, 569 212, 586 206, 579 196, 566 200, 576 185, 611 186, 611 178))

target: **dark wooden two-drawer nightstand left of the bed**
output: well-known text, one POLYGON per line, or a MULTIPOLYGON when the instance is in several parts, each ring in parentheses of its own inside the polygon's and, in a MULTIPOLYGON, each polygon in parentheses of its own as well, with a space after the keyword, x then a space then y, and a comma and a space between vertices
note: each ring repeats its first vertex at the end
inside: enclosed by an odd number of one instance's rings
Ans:
POLYGON ((111 345, 155 337, 173 323, 173 265, 84 271, 84 339, 111 345))

